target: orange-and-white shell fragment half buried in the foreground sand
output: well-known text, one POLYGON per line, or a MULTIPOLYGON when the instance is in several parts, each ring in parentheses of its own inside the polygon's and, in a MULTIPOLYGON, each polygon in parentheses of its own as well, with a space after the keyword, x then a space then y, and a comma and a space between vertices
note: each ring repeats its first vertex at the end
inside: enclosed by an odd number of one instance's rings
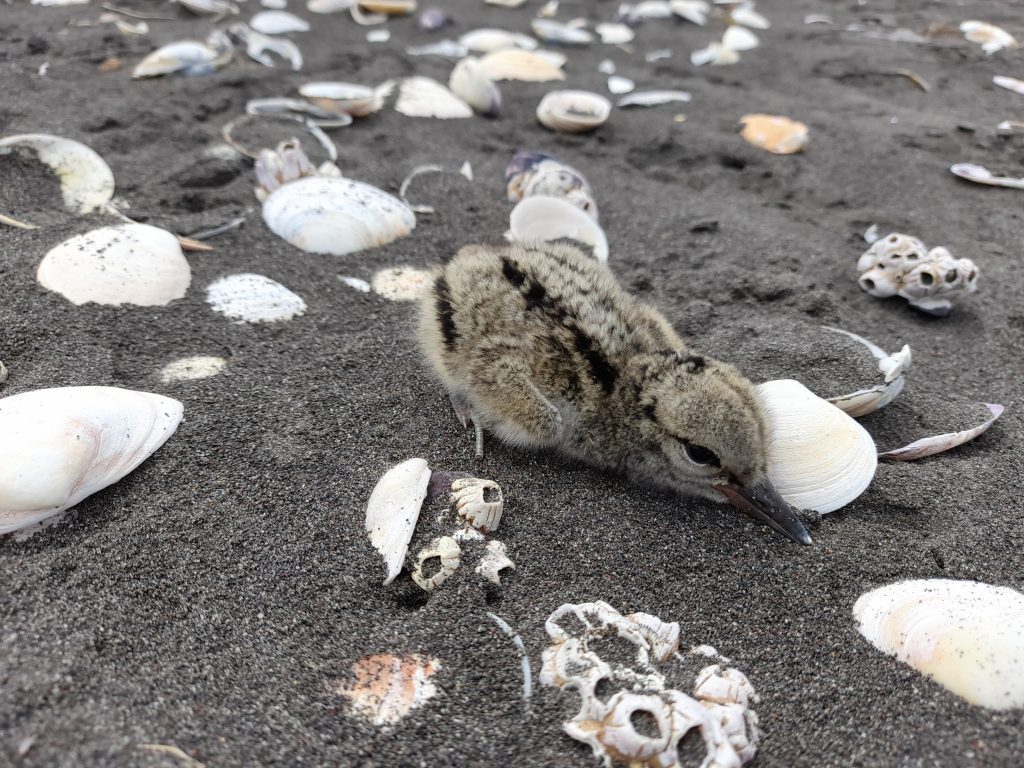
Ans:
POLYGON ((355 680, 335 692, 348 698, 353 714, 374 725, 394 725, 437 693, 431 681, 441 669, 436 658, 417 653, 378 653, 352 666, 355 680))

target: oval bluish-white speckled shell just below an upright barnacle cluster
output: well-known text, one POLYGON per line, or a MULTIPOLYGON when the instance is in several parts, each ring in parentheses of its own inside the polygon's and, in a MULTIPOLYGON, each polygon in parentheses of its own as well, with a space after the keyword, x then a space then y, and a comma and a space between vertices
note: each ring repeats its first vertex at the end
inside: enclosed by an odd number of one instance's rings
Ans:
POLYGON ((386 245, 416 226, 409 206, 384 190, 323 177, 301 178, 274 189, 263 203, 263 220, 296 248, 334 256, 386 245))

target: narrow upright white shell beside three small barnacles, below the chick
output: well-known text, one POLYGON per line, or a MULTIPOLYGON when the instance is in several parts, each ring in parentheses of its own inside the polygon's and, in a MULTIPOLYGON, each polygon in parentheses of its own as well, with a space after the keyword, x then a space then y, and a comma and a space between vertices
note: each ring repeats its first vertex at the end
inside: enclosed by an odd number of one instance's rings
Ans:
POLYGON ((384 586, 391 584, 401 570, 429 483, 427 462, 409 459, 389 469, 370 495, 367 532, 370 543, 384 557, 387 568, 384 586))

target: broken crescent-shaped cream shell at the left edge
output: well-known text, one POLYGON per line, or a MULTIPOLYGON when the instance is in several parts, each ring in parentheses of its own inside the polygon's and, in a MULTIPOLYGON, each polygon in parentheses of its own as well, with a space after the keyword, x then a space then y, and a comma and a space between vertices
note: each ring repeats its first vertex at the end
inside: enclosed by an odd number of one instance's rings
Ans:
POLYGON ((28 147, 60 178, 65 206, 77 213, 98 210, 114 197, 114 173, 95 152, 70 138, 19 133, 0 138, 0 155, 28 147))

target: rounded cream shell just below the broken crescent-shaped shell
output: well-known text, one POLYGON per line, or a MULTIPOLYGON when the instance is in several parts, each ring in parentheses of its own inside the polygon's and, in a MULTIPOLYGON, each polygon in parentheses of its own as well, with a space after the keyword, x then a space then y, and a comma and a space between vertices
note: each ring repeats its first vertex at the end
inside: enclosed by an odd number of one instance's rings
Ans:
POLYGON ((169 231, 115 224, 66 240, 46 254, 36 279, 73 304, 157 306, 185 295, 191 269, 169 231))

